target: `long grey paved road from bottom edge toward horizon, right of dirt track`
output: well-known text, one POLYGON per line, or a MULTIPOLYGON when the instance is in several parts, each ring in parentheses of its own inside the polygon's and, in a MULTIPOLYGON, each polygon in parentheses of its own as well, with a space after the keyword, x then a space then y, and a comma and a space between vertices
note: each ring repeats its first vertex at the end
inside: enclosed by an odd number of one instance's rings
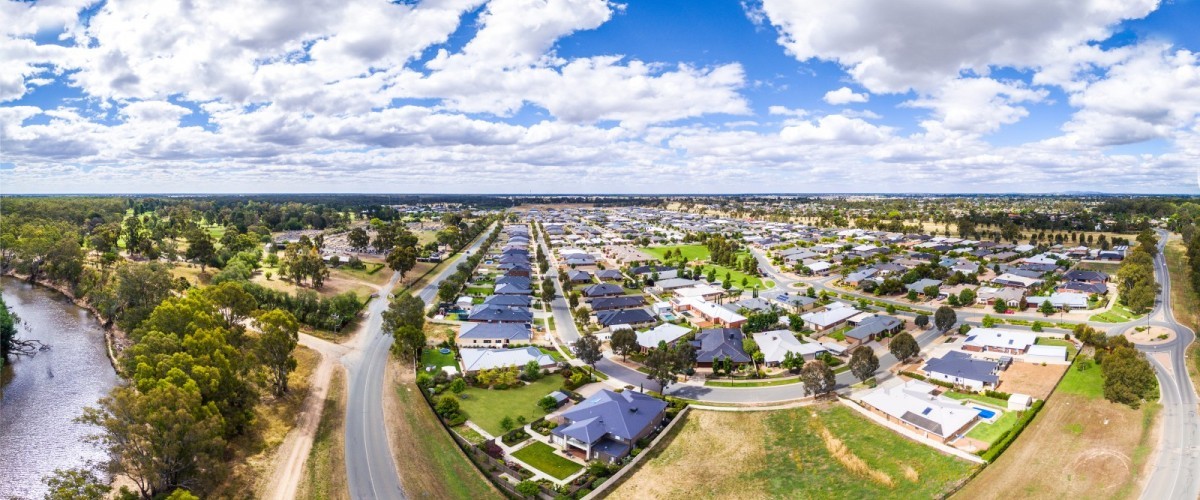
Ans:
MULTIPOLYGON (((438 284, 455 272, 463 255, 479 249, 492 228, 481 233, 463 253, 448 263, 438 275, 418 290, 426 303, 437 297, 438 284)), ((383 335, 385 299, 398 281, 397 275, 379 293, 380 299, 367 306, 367 326, 353 342, 355 349, 342 357, 349 374, 346 415, 346 476, 352 499, 403 499, 404 490, 391 456, 388 428, 383 417, 384 369, 391 350, 391 336, 383 335)))

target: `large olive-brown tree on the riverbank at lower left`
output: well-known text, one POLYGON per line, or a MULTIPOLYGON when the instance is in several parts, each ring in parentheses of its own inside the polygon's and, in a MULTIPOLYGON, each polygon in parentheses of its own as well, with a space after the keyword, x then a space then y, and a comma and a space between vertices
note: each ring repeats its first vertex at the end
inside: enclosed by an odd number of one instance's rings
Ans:
POLYGON ((145 392, 114 388, 79 421, 102 429, 90 440, 107 452, 107 470, 128 477, 144 499, 175 488, 203 490, 221 477, 224 422, 178 368, 145 392))

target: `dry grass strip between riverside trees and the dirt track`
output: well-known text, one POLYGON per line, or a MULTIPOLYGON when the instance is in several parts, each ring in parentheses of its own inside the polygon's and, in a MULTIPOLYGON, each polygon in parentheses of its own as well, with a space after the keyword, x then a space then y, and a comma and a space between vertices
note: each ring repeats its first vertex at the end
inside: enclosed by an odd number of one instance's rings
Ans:
POLYGON ((308 397, 310 378, 320 361, 317 351, 298 347, 295 350, 296 369, 288 375, 288 393, 282 397, 264 394, 254 408, 258 418, 246 435, 230 441, 230 464, 224 481, 212 493, 212 498, 236 498, 257 492, 263 496, 266 482, 271 476, 275 452, 283 438, 295 427, 300 406, 308 397))

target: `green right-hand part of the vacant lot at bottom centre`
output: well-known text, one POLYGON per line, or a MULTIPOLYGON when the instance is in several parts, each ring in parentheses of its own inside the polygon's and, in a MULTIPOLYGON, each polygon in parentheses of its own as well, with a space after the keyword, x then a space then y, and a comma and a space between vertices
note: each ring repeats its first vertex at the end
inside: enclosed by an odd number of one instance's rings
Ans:
POLYGON ((764 483, 768 496, 791 498, 804 492, 806 498, 938 498, 974 466, 910 441, 841 405, 770 411, 760 418, 768 429, 767 457, 744 478, 764 483), (816 426, 827 428, 872 470, 887 474, 893 486, 848 471, 828 451, 816 426), (906 478, 905 466, 914 469, 918 480, 906 478))

